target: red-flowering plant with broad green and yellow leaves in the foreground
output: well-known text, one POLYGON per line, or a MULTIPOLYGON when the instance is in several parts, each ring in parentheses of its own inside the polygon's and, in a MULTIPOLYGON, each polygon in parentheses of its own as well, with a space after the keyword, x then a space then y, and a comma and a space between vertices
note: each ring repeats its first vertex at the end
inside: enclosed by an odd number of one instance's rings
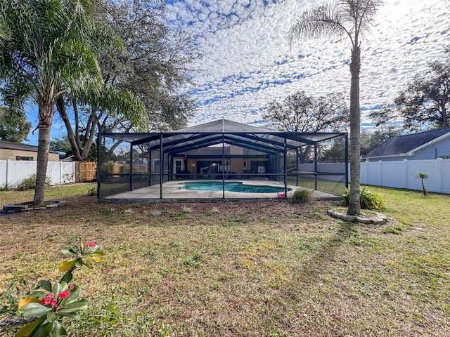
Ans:
MULTIPOLYGON (((60 263, 59 270, 65 271, 60 282, 53 285, 49 281, 39 281, 36 289, 27 289, 26 295, 17 302, 17 306, 11 310, 15 317, 22 318, 21 329, 15 333, 15 337, 62 337, 67 336, 65 328, 61 325, 63 317, 80 319, 79 312, 87 308, 87 300, 77 299, 79 286, 72 283, 72 271, 76 267, 86 265, 91 267, 91 260, 103 261, 103 252, 100 246, 94 242, 83 243, 64 248, 61 252, 72 254, 76 257, 64 260, 60 263)), ((15 322, 18 319, 15 318, 15 322)))

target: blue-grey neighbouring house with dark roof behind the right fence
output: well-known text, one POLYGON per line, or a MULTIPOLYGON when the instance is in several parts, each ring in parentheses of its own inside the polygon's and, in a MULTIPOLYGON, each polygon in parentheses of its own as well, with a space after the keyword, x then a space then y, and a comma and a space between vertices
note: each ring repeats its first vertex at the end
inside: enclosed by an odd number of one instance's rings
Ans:
POLYGON ((450 159, 450 127, 389 138, 363 158, 366 161, 450 159))

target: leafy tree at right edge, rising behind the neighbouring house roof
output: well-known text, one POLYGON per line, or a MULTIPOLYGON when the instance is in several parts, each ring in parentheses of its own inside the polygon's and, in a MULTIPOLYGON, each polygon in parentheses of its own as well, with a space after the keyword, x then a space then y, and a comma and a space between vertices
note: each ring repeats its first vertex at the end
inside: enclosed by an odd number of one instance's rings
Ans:
POLYGON ((404 122, 404 129, 445 128, 450 125, 450 46, 443 61, 430 62, 428 70, 416 74, 395 98, 395 107, 373 112, 377 125, 394 119, 404 122))

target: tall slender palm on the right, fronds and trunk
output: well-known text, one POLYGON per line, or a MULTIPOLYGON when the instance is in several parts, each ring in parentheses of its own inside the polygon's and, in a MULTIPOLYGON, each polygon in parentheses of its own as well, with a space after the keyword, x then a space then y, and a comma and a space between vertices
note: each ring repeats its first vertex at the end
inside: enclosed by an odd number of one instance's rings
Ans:
POLYGON ((338 0, 304 11, 290 27, 289 38, 294 40, 316 37, 349 37, 352 43, 350 61, 350 199, 347 213, 359 214, 361 112, 359 109, 359 70, 361 68, 360 41, 363 32, 373 22, 380 0, 338 0))

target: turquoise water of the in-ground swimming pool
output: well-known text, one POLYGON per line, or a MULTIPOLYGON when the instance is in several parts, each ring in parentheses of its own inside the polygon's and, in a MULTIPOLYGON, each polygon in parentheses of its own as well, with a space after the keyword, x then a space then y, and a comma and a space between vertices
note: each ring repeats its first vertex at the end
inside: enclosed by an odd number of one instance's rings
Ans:
MULTIPOLYGON (((196 190, 196 191, 221 191, 222 190, 221 181, 196 181, 192 183, 184 183, 185 190, 196 190)), ((183 187, 181 187, 183 188, 183 187)), ((274 186, 264 186, 264 185, 243 185, 243 183, 233 182, 225 183, 225 190, 229 192, 243 192, 243 193, 276 193, 283 192, 283 187, 274 186)), ((288 191, 292 188, 288 188, 288 191)))

